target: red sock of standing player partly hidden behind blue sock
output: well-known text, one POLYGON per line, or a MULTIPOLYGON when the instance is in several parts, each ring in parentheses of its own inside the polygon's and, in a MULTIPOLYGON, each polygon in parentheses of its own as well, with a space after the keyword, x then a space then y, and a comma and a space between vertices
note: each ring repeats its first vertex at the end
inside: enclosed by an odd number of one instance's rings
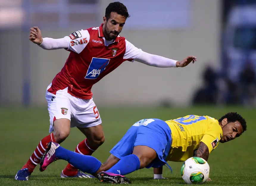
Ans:
MULTIPOLYGON (((96 150, 96 149, 95 149, 96 150)), ((82 140, 78 145, 77 148, 75 150, 75 152, 80 153, 80 154, 84 154, 84 155, 92 155, 93 152, 95 151, 93 150, 87 142, 87 138, 85 140, 82 140)), ((66 176, 75 176, 77 174, 77 168, 75 168, 73 165, 69 164, 66 166, 66 168, 63 170, 63 174, 65 174, 66 176)))

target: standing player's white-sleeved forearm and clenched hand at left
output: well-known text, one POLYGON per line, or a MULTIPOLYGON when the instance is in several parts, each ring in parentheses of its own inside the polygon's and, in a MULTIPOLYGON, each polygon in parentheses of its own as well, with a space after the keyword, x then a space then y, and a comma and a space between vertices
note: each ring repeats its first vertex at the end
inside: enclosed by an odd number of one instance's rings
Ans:
POLYGON ((45 50, 67 49, 69 45, 65 37, 60 39, 43 38, 41 30, 37 26, 30 28, 29 40, 45 50))

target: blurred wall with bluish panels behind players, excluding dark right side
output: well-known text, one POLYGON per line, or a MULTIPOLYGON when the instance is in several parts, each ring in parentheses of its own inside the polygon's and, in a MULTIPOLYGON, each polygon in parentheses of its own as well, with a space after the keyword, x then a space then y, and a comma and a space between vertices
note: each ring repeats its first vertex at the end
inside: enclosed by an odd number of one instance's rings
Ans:
MULTIPOLYGON (((112 0, 1 0, 1 105, 46 107, 45 91, 69 52, 46 51, 29 41, 29 28, 43 37, 62 38, 99 26, 112 0)), ((99 106, 188 106, 204 85, 202 73, 221 66, 221 1, 123 0, 130 18, 121 36, 148 53, 182 60, 187 68, 154 68, 124 62, 93 87, 99 106), (136 5, 136 6, 135 6, 136 5)))

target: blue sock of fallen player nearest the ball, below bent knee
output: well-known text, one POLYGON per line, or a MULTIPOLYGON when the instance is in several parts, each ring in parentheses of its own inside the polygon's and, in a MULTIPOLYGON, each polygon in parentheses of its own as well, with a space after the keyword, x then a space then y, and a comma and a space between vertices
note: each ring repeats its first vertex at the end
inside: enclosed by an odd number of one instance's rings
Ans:
POLYGON ((140 168, 140 160, 135 154, 130 154, 119 160, 112 168, 107 172, 112 172, 114 174, 126 175, 131 172, 137 171, 140 168))

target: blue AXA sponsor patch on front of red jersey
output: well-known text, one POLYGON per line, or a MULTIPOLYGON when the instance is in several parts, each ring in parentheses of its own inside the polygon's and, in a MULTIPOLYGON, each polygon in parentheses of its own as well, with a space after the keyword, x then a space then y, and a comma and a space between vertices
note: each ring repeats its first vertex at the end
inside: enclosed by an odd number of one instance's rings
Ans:
POLYGON ((109 61, 110 59, 93 57, 85 79, 97 79, 97 77, 99 77, 99 75, 105 70, 109 61))

